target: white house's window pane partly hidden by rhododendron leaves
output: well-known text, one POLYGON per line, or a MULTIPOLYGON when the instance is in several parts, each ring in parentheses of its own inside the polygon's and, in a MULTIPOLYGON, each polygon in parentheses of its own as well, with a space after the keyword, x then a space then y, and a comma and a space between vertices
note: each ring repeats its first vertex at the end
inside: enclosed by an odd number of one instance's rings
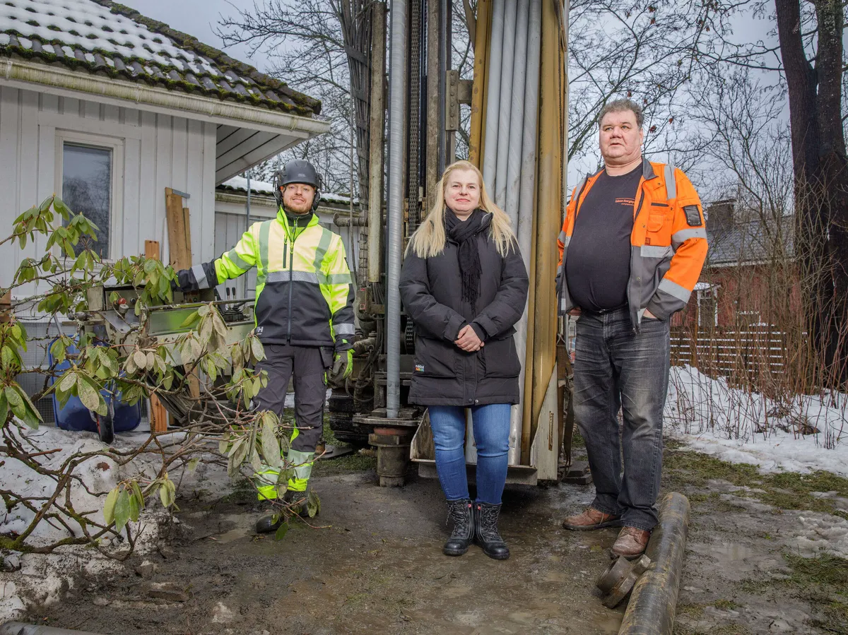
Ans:
MULTIPOLYGON (((109 259, 113 213, 113 148, 64 142, 62 146, 62 199, 76 214, 98 226, 97 236, 81 237, 74 247, 79 254, 92 249, 109 259)), ((67 225, 67 221, 64 221, 67 225)))

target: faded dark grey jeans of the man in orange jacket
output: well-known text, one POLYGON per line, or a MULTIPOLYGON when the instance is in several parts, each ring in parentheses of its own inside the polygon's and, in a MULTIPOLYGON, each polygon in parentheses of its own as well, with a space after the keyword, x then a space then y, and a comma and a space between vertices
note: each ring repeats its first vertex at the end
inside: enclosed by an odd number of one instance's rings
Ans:
POLYGON ((574 418, 589 454, 592 507, 638 529, 651 530, 657 521, 670 357, 667 321, 643 319, 635 333, 627 308, 577 320, 574 418))

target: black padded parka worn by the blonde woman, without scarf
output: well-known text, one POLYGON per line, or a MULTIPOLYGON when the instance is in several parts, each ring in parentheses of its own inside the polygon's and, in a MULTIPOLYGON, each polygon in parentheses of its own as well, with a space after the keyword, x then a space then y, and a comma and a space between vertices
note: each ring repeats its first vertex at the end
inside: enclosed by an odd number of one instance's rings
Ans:
POLYGON ((410 251, 404 259, 400 298, 416 326, 413 404, 518 403, 521 361, 512 336, 527 304, 527 270, 517 245, 505 257, 498 253, 489 237, 491 218, 485 214, 476 237, 483 270, 477 311, 462 300, 459 245, 450 237, 438 256, 422 259, 410 251), (466 324, 484 343, 475 353, 454 343, 466 324))

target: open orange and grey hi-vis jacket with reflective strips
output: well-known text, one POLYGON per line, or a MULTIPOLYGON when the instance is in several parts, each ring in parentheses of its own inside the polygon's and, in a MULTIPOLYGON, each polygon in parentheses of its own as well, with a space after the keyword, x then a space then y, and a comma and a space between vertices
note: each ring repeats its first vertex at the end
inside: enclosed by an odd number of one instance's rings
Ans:
MULTIPOLYGON (((575 308, 563 268, 574 220, 599 175, 600 172, 587 175, 574 188, 557 240, 561 315, 575 308)), ((698 192, 683 171, 643 159, 642 177, 633 203, 630 246, 628 307, 633 328, 639 331, 646 309, 660 320, 667 320, 686 306, 706 259, 704 213, 698 192)))

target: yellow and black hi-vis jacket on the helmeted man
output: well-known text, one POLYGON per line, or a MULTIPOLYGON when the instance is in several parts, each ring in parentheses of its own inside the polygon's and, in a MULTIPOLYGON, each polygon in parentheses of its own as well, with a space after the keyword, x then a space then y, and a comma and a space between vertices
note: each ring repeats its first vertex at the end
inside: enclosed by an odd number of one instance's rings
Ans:
POLYGON ((254 313, 261 342, 337 352, 353 347, 354 285, 344 243, 315 214, 303 214, 293 226, 280 209, 275 219, 254 223, 230 251, 192 267, 191 287, 213 287, 251 267, 257 269, 254 313))

